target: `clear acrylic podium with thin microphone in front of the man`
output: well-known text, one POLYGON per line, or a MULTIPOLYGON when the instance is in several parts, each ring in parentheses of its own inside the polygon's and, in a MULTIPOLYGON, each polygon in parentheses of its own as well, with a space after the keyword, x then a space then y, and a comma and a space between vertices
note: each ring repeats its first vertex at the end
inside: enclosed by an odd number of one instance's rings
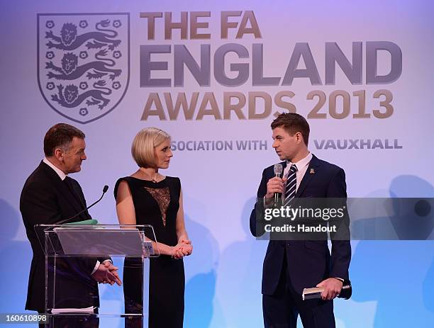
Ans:
POLYGON ((35 231, 45 253, 47 327, 96 327, 104 317, 125 318, 126 327, 148 322, 145 259, 160 256, 152 226, 35 225, 35 231), (106 259, 118 267, 123 286, 98 287, 91 277, 97 261, 106 259), (109 300, 100 302, 101 290, 109 300))

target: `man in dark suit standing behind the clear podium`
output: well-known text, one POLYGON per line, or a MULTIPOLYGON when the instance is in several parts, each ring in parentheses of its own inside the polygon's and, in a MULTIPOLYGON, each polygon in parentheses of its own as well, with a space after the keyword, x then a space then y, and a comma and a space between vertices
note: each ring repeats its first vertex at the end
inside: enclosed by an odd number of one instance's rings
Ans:
MULTIPOLYGON (((80 213, 87 208, 82 188, 67 176, 81 170, 85 147, 79 129, 63 123, 52 126, 44 138, 45 158, 23 186, 20 210, 33 250, 26 310, 45 312, 45 255, 34 226, 91 219, 87 210, 80 213)), ((116 270, 109 259, 57 259, 56 301, 51 304, 49 298, 48 307, 98 307, 97 282, 120 285, 116 270)))

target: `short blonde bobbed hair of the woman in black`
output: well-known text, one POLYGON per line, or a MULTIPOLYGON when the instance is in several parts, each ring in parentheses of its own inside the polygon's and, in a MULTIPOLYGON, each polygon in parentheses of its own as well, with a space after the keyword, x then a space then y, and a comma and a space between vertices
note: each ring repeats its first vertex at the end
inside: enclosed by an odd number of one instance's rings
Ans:
POLYGON ((159 128, 145 128, 135 135, 131 145, 131 155, 140 167, 155 166, 155 147, 165 140, 170 140, 170 135, 159 128))

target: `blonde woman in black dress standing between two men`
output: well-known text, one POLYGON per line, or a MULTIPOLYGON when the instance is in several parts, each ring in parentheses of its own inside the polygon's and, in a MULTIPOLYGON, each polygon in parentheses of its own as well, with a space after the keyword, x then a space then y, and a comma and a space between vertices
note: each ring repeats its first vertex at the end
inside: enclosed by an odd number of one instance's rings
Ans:
MULTIPOLYGON (((182 257, 190 255, 192 247, 184 224, 179 178, 160 174, 160 169, 167 169, 173 157, 170 136, 158 128, 143 129, 133 140, 131 154, 139 168, 118 179, 114 193, 119 223, 152 225, 157 237, 161 256, 150 260, 149 327, 182 327, 185 287, 182 257)), ((143 308, 137 288, 143 271, 131 263, 125 267, 126 312, 137 313, 143 308)), ((136 324, 130 322, 130 326, 136 324)))

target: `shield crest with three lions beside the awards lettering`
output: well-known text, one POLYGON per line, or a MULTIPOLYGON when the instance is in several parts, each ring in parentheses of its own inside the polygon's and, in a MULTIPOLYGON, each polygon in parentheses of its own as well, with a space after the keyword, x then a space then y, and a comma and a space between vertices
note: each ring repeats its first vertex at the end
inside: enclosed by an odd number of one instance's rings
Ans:
POLYGON ((97 120, 118 106, 129 79, 129 13, 38 14, 38 84, 57 113, 97 120))

